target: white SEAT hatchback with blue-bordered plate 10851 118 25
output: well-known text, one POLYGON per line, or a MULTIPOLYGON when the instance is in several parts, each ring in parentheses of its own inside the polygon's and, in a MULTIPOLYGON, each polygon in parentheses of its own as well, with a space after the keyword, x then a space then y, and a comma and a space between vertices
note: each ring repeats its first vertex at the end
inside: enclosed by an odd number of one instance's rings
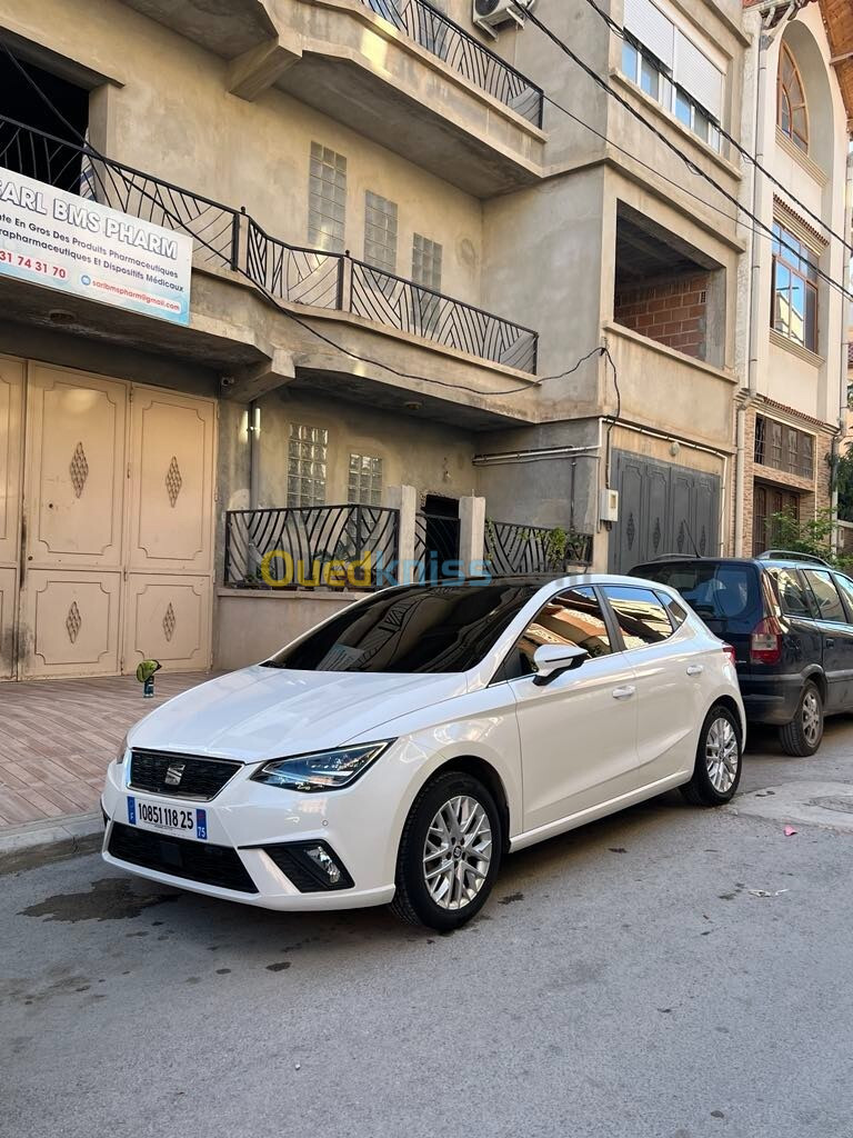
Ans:
POLYGON ((728 802, 731 650, 678 594, 585 575, 400 586, 130 732, 103 858, 268 908, 447 930, 513 850, 679 786, 728 802))

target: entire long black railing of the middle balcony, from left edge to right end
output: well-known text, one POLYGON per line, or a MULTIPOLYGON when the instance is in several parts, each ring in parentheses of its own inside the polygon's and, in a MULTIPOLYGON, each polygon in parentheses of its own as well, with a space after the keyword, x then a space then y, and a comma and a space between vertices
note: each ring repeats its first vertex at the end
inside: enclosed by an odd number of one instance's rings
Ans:
MULTIPOLYGON (((0 166, 78 192, 84 162, 99 203, 189 233, 197 269, 239 273, 267 298, 304 308, 306 316, 334 319, 340 313, 373 331, 414 338, 473 361, 536 372, 538 335, 532 329, 349 256, 287 245, 242 211, 0 115, 0 166)), ((16 319, 14 305, 6 315, 16 319)), ((115 327, 119 319, 116 313, 115 327)))

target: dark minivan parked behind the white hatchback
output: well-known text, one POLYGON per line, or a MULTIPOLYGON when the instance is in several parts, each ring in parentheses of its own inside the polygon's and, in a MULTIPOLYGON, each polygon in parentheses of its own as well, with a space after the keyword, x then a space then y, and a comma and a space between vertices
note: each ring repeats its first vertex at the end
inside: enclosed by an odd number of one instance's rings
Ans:
POLYGON ((820 558, 662 558, 632 576, 678 589, 735 648, 751 723, 779 727, 789 754, 813 754, 823 717, 853 711, 853 580, 820 558))

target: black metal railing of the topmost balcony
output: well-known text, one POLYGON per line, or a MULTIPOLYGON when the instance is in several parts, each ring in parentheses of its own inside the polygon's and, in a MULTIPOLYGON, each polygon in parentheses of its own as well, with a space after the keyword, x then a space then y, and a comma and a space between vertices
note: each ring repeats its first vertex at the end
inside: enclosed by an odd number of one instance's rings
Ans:
POLYGON ((543 125, 541 89, 428 0, 362 0, 362 3, 522 118, 543 125))

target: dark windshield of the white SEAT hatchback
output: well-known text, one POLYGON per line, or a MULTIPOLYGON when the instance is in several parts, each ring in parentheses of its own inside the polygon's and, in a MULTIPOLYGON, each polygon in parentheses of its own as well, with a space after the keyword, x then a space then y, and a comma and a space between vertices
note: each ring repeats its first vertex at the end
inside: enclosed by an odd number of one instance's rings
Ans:
POLYGON ((299 671, 467 671, 537 584, 409 585, 345 609, 265 662, 299 671))

